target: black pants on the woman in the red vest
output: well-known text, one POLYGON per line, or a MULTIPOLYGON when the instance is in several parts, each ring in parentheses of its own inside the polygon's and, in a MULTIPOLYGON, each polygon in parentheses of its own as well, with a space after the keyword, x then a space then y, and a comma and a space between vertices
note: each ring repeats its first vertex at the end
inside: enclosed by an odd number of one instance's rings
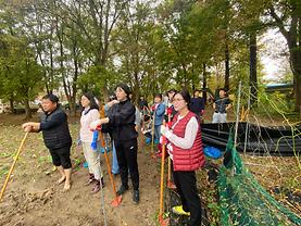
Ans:
POLYGON ((198 196, 196 172, 173 172, 183 209, 190 212, 189 226, 200 226, 202 221, 201 200, 198 196))

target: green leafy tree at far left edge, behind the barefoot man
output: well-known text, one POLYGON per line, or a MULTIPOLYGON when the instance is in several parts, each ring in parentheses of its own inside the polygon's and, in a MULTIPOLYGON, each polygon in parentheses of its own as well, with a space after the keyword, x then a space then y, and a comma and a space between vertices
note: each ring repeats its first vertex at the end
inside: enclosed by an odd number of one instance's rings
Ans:
POLYGON ((24 37, 7 37, 7 52, 0 59, 1 96, 10 101, 21 101, 26 118, 32 117, 29 102, 41 88, 42 67, 24 37))

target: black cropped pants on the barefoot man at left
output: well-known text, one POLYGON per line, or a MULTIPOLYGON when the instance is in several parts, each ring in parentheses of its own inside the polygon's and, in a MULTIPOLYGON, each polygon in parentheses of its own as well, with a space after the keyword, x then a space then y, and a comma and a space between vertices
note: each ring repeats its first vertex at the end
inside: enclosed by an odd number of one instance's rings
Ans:
POLYGON ((70 149, 71 145, 59 149, 49 149, 53 165, 61 165, 63 168, 71 168, 70 149))

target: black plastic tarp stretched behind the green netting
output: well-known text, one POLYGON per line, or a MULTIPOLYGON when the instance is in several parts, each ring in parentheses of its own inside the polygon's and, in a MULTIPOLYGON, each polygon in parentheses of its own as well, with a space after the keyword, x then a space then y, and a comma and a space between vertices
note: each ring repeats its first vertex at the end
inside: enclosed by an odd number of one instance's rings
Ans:
MULTIPOLYGON (((229 133, 235 133, 235 123, 205 123, 201 124, 202 140, 206 146, 213 146, 221 150, 226 149, 229 133)), ((301 125, 264 127, 251 123, 238 124, 237 146, 238 151, 253 153, 269 153, 292 155, 301 153, 301 125), (247 137, 246 137, 247 133, 247 137), (247 139, 246 139, 247 138, 247 139), (246 141, 246 145, 244 145, 246 141)))

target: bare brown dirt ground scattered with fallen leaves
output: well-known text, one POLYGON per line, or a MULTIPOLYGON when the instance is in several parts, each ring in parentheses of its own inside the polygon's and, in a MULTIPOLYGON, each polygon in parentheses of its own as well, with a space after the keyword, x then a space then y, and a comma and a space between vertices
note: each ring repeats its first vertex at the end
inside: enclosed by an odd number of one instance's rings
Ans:
MULTIPOLYGON (((87 168, 83 167, 84 156, 76 148, 78 118, 70 120, 74 145, 74 164, 71 191, 62 192, 63 185, 54 186, 59 173, 53 171, 51 159, 43 146, 41 134, 29 134, 13 176, 0 203, 1 226, 96 226, 103 225, 100 192, 91 194, 91 187, 85 186, 87 168)), ((24 136, 21 129, 22 115, 0 116, 0 187, 24 136)), ((140 142, 141 143, 141 142, 140 142)), ((104 199, 110 226, 154 226, 159 210, 160 160, 150 158, 149 148, 140 146, 140 203, 131 201, 131 190, 123 196, 118 208, 112 208, 113 200, 104 159, 104 199)), ((300 186, 300 171, 294 158, 243 156, 251 172, 261 184, 269 189, 275 186, 300 186), (271 167, 269 167, 271 165, 271 167), (264 167, 267 166, 267 167, 264 167)), ((204 174, 199 174, 202 180, 204 174)), ((120 185, 118 176, 114 178, 120 185)), ((202 188, 203 189, 203 188, 202 188)), ((205 189, 204 189, 205 190, 205 189)), ((203 192, 206 196, 206 192, 203 192)), ((215 225, 212 221, 212 225, 215 225)))

